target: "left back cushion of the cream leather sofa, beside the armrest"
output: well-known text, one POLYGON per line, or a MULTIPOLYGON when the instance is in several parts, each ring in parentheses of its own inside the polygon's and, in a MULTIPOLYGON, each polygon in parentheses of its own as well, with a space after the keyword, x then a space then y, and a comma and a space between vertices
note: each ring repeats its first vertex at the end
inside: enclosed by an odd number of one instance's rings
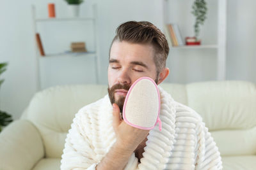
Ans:
POLYGON ((45 157, 61 157, 74 115, 84 105, 107 93, 106 85, 66 85, 50 87, 35 94, 26 111, 26 119, 40 131, 45 157))

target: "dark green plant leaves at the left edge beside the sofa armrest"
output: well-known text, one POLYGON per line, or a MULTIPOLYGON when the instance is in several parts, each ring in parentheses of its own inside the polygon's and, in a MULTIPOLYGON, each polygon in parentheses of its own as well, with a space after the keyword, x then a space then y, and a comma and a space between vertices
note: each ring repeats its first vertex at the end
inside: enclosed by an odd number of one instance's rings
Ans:
MULTIPOLYGON (((6 71, 6 66, 7 66, 6 62, 0 63, 0 75, 4 71, 6 71)), ((3 82, 4 82, 4 80, 0 80, 0 87, 1 87, 3 82)), ((3 126, 6 126, 6 125, 10 124, 10 122, 12 122, 12 121, 13 120, 12 120, 11 115, 9 115, 8 113, 0 110, 0 132, 2 131, 3 126)))

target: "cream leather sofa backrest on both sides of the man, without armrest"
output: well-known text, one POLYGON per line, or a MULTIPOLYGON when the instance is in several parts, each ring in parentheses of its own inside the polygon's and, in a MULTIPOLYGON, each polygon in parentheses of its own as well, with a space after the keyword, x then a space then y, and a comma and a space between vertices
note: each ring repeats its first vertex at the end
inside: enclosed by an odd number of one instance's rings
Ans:
MULTIPOLYGON (((61 157, 77 111, 106 94, 107 85, 66 85, 35 94, 22 118, 40 132, 45 157, 61 157)), ((221 155, 256 153, 256 87, 246 81, 161 84, 175 101, 197 111, 209 127, 221 155)))

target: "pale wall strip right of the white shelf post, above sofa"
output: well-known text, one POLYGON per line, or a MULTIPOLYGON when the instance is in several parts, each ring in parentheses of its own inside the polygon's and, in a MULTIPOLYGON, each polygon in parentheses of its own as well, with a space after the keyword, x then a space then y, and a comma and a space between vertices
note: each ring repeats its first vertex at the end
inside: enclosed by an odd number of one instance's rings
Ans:
POLYGON ((227 78, 256 82, 256 1, 228 1, 227 78))

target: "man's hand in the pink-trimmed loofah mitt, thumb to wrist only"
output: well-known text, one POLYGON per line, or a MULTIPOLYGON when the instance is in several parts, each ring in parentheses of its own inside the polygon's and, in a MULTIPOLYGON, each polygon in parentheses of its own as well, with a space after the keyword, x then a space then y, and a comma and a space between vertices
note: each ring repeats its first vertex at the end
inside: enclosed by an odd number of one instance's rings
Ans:
POLYGON ((116 145, 127 151, 134 151, 147 137, 149 130, 132 127, 120 119, 120 109, 113 104, 113 129, 116 134, 116 145))

